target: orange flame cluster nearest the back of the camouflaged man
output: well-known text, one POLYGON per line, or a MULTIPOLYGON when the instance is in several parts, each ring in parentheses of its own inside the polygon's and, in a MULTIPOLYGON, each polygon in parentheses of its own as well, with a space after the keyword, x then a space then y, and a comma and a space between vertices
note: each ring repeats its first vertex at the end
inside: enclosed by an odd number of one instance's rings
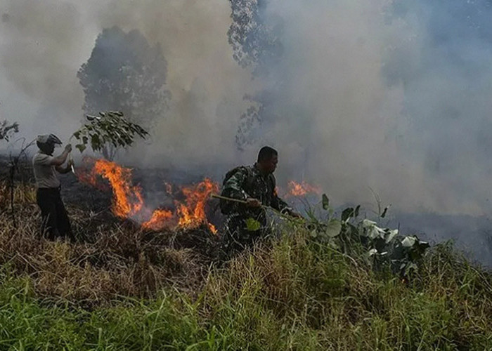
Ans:
MULTIPOLYGON (((212 192, 219 192, 219 185, 205 178, 201 183, 181 189, 186 197, 184 204, 176 204, 179 215, 178 224, 181 227, 195 227, 197 224, 207 223, 205 204, 212 192)), ((216 233, 214 225, 209 224, 210 230, 216 233)))

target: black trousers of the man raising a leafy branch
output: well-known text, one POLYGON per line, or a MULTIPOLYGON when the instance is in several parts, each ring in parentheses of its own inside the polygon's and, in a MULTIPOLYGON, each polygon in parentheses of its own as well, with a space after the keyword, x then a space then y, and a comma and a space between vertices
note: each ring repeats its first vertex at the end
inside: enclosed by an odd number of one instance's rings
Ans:
POLYGON ((41 235, 46 235, 47 239, 52 240, 65 236, 74 239, 70 219, 60 197, 60 189, 38 189, 36 201, 41 208, 41 235))

